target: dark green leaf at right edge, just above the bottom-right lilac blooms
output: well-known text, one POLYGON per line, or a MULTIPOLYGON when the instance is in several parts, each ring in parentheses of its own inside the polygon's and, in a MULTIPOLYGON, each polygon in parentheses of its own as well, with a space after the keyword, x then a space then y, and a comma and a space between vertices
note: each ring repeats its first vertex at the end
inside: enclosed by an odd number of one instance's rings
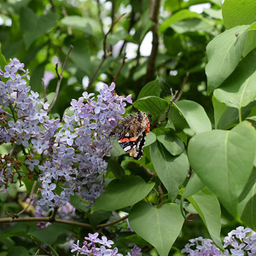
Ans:
POLYGON ((253 230, 256 230, 256 168, 253 168, 247 185, 241 193, 238 204, 238 213, 241 220, 253 230))

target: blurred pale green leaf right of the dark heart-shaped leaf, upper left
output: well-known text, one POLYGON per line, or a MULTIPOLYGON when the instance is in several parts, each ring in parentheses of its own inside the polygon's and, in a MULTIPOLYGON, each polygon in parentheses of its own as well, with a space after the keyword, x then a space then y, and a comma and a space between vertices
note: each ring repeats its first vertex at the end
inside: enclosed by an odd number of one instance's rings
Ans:
POLYGON ((90 35, 93 33, 90 22, 86 17, 70 15, 61 19, 61 23, 65 26, 70 26, 71 28, 81 30, 90 35))

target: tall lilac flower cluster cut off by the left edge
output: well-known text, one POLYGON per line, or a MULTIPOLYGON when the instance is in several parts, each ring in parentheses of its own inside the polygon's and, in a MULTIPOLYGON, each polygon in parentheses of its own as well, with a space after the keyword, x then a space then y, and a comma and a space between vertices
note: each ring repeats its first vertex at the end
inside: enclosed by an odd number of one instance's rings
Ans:
MULTIPOLYGON (((16 58, 10 59, 4 71, 0 69, 0 144, 20 145, 28 157, 27 160, 31 159, 25 162, 25 165, 28 163, 27 169, 31 175, 39 161, 33 160, 33 156, 31 157, 25 148, 32 144, 32 149, 36 151, 38 139, 44 142, 44 147, 48 147, 41 127, 49 119, 46 112, 49 104, 41 102, 38 93, 26 86, 26 79, 29 80, 30 77, 23 63, 16 58)), ((5 184, 8 187, 9 182, 14 182, 14 171, 19 174, 19 168, 10 154, 9 160, 3 160, 0 186, 5 184)), ((17 176, 21 178, 20 175, 17 176)))

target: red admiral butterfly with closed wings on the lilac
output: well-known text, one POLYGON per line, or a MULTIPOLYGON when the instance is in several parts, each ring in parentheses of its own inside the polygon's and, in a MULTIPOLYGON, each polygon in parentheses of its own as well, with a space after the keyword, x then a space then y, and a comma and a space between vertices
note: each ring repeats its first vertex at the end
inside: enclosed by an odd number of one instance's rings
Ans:
POLYGON ((149 131, 149 121, 145 113, 138 111, 121 119, 111 134, 118 137, 120 146, 136 160, 143 156, 145 137, 149 131))

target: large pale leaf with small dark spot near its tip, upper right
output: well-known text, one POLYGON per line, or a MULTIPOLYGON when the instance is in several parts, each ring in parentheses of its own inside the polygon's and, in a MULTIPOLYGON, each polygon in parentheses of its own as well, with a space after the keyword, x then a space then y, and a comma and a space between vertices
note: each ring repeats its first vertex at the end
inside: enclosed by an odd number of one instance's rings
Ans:
POLYGON ((208 93, 218 88, 230 73, 235 70, 241 60, 248 27, 247 25, 233 27, 213 38, 207 45, 208 63, 206 73, 208 93))

